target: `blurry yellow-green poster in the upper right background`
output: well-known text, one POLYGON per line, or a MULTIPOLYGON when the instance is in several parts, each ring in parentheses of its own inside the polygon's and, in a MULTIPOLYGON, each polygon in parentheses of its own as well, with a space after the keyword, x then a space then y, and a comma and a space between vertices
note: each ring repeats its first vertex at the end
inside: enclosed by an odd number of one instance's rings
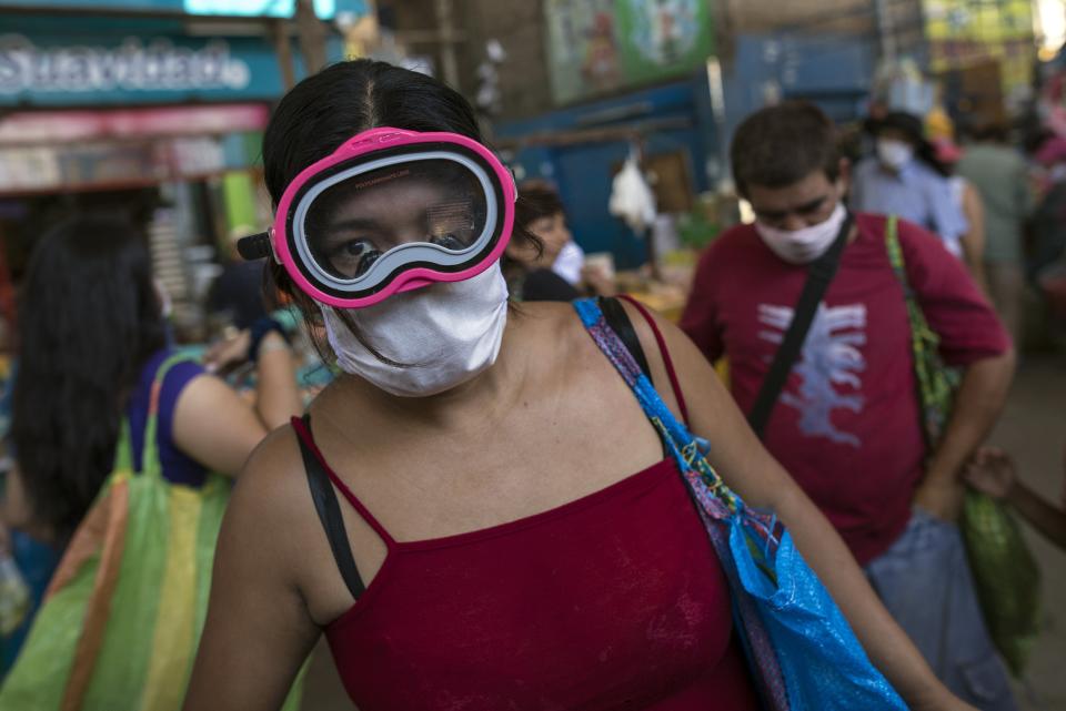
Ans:
POLYGON ((929 69, 946 72, 994 59, 1008 103, 1033 83, 1032 0, 925 0, 929 69))

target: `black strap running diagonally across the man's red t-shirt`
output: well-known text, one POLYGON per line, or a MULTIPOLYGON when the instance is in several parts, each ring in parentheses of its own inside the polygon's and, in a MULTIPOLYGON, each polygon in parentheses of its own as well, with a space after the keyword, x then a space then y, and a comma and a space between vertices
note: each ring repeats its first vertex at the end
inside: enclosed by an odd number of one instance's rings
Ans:
POLYGON ((774 412, 774 406, 777 404, 777 397, 788 380, 792 364, 796 362, 796 357, 803 348, 803 342, 807 338, 807 332, 811 331, 811 324, 814 323, 818 304, 822 303, 825 291, 833 282, 833 277, 836 276, 836 270, 841 265, 841 255, 844 253, 844 247, 847 246, 847 236, 852 232, 853 224, 855 224, 855 219, 848 211, 836 240, 825 254, 811 263, 807 281, 800 294, 800 301, 796 303, 792 324, 788 326, 777 353, 774 354, 774 362, 758 390, 755 406, 752 407, 752 412, 747 416, 748 424, 761 439, 766 430, 770 416, 774 412))

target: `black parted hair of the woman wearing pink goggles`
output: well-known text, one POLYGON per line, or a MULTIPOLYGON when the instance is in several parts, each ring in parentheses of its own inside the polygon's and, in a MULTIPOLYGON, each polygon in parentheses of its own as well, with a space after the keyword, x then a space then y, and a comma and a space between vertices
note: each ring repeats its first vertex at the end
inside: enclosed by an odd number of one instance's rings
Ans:
MULTIPOLYGON (((263 180, 274 207, 300 171, 358 133, 380 126, 446 131, 484 143, 470 102, 447 84, 388 62, 339 62, 293 87, 266 125, 263 180)), ((527 240, 530 235, 515 230, 512 238, 527 240)), ((314 323, 316 304, 292 283, 284 268, 272 264, 271 276, 300 306, 304 318, 314 323)), ((355 332, 351 322, 349 327, 355 332)))

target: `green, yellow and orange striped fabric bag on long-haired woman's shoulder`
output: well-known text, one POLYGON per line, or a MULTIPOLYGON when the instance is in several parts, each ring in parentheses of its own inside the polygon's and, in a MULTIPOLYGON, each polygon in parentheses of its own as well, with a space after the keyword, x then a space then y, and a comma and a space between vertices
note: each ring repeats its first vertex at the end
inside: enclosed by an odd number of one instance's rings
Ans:
MULTIPOLYGON (((10 676, 2 711, 179 711, 203 630, 230 483, 163 478, 152 386, 143 466, 124 425, 114 471, 78 527, 10 676)), ((299 708, 298 682, 285 709, 299 708)))

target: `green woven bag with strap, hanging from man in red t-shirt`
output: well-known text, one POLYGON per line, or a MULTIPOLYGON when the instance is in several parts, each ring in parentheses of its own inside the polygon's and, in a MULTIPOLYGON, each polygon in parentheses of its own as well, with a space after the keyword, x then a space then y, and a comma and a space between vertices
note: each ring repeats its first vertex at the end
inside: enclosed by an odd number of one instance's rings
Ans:
MULTIPOLYGON (((958 377, 941 360, 939 336, 929 327, 911 290, 896 222, 895 217, 888 219, 885 240, 893 270, 906 294, 918 402, 926 445, 932 451, 951 415, 958 377)), ((1039 632, 1039 568, 1003 501, 967 490, 959 530, 988 633, 1012 673, 1020 677, 1039 632)))

